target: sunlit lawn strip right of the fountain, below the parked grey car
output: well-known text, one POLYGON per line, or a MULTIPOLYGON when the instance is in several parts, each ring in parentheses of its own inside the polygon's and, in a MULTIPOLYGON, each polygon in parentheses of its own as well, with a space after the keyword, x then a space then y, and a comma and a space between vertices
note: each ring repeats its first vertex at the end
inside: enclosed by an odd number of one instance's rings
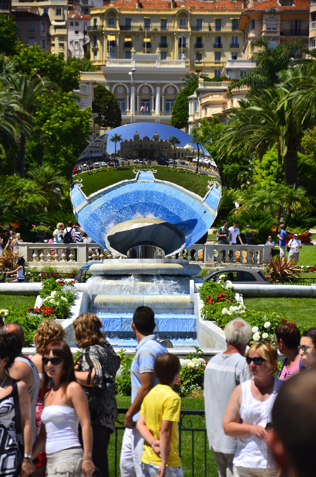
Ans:
MULTIPOLYGON (((305 273, 302 274, 305 276, 305 273)), ((244 305, 254 311, 276 311, 296 324, 316 326, 315 298, 244 298, 244 305)))

